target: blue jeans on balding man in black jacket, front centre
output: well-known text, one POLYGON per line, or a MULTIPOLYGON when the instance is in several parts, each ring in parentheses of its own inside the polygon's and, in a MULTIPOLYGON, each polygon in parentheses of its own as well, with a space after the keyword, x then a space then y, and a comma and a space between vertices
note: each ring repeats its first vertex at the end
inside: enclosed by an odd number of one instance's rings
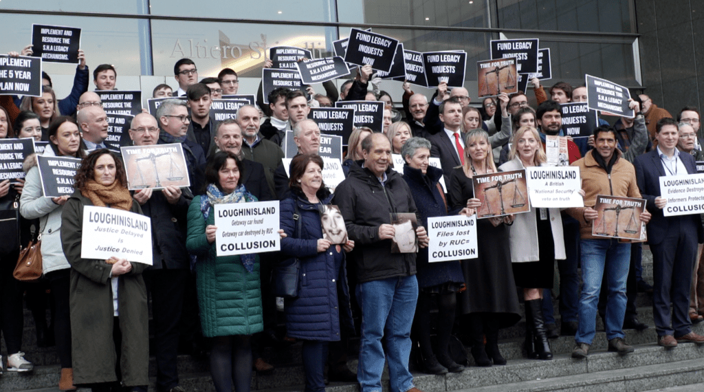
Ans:
POLYGON ((410 326, 413 324, 418 299, 415 275, 360 283, 356 293, 362 309, 362 337, 357 367, 360 391, 382 391, 384 353, 389 362, 391 392, 408 391, 413 388, 408 357, 411 346, 410 326))

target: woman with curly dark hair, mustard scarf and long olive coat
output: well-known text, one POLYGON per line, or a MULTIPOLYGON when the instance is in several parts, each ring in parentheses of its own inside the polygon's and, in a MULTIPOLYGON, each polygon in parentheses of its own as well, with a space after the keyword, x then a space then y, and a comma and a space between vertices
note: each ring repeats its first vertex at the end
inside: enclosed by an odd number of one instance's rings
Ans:
POLYGON ((84 158, 73 186, 76 190, 61 213, 61 244, 71 265, 73 381, 91 386, 94 392, 111 391, 120 384, 130 391, 146 392, 149 313, 142 272, 148 265, 117 256, 107 260, 81 257, 85 206, 137 214, 142 208, 127 190, 122 160, 105 148, 84 158))

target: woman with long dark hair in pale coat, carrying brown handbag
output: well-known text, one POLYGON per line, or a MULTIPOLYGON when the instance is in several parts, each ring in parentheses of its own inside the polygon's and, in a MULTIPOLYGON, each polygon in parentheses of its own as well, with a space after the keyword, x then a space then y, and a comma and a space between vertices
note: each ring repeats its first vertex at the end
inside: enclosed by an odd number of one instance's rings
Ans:
MULTIPOLYGON (((28 118, 32 119, 29 115, 28 118)), ((34 119, 34 121, 37 120, 34 119)), ((30 121, 25 121, 25 125, 28 122, 30 121)), ((61 116, 51 122, 49 140, 51 148, 44 148, 42 156, 83 157, 83 151, 80 148, 81 134, 73 118, 61 116)), ((56 339, 58 358, 61 362, 59 388, 62 391, 68 391, 75 389, 75 386, 73 386, 73 365, 71 363, 71 322, 69 315, 71 266, 66 260, 61 245, 61 214, 69 196, 44 197, 42 179, 39 177, 39 168, 36 165, 37 158, 34 158, 34 156, 25 160, 24 170, 27 172, 27 177, 25 177, 25 189, 20 198, 20 213, 25 219, 39 219, 39 234, 42 235, 42 270, 44 277, 49 281, 51 295, 54 296, 54 339, 56 339)), ((32 297, 30 296, 30 298, 32 297)), ((39 301, 37 299, 35 302, 39 301)), ((44 307, 37 306, 37 308, 42 310, 44 307)), ((34 317, 35 322, 37 322, 37 334, 40 333, 40 329, 48 329, 46 320, 44 320, 45 317, 45 315, 34 317)), ((51 335, 51 331, 46 331, 46 334, 51 335)))

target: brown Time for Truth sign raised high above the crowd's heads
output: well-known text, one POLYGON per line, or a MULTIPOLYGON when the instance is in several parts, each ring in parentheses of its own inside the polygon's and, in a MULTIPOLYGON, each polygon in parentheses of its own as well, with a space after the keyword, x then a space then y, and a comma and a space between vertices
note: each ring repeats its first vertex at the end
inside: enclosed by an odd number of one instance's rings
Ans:
POLYGON ((477 61, 477 85, 479 98, 517 92, 516 59, 477 61))

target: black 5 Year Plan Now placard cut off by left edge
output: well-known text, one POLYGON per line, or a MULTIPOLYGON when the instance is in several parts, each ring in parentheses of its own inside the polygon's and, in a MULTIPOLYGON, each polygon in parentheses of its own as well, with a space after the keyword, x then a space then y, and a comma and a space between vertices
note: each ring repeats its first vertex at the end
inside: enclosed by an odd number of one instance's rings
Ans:
POLYGON ((42 59, 0 54, 0 95, 42 96, 42 59))

